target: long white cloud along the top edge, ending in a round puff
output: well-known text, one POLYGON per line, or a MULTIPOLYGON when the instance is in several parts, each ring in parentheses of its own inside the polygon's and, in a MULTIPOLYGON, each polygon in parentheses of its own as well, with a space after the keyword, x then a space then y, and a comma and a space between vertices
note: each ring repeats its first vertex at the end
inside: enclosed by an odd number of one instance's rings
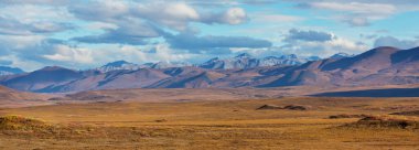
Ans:
POLYGON ((89 4, 71 6, 69 11, 77 18, 118 24, 123 20, 147 20, 158 25, 186 30, 191 22, 240 24, 247 21, 246 11, 241 8, 230 8, 222 12, 198 11, 185 2, 127 2, 127 1, 93 1, 89 4), (109 11, 112 10, 112 11, 109 11))

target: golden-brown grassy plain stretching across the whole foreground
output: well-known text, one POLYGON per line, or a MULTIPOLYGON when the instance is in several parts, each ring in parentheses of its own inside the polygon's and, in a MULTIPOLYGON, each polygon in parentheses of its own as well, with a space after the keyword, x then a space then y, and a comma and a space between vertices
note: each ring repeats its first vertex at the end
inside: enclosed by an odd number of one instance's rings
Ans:
POLYGON ((361 118, 329 118, 341 114, 388 115, 408 110, 419 110, 419 98, 290 97, 3 108, 0 116, 17 115, 43 124, 3 129, 0 126, 0 149, 418 150, 418 126, 355 127, 348 125, 361 118), (257 109, 267 104, 301 105, 308 110, 257 109))

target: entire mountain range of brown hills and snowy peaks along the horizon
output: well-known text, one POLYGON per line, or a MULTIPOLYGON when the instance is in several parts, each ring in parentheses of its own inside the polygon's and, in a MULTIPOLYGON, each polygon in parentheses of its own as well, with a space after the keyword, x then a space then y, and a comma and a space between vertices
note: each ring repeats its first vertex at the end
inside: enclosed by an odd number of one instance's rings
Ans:
MULTIPOLYGON (((155 63, 157 64, 157 63, 155 63)), ((119 88, 236 88, 280 86, 372 86, 419 83, 419 47, 377 47, 359 55, 309 61, 296 55, 212 58, 201 65, 154 67, 125 61, 88 71, 52 66, 0 77, 10 88, 73 93, 119 88), (305 63, 303 63, 305 61, 305 63)))

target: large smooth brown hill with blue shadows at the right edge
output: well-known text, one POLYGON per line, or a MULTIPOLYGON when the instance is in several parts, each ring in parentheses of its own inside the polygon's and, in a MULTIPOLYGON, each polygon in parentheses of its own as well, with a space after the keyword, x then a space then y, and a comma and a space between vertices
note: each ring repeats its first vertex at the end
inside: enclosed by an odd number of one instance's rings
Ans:
POLYGON ((415 84, 419 83, 418 55, 419 49, 377 47, 353 57, 305 63, 259 87, 415 84))

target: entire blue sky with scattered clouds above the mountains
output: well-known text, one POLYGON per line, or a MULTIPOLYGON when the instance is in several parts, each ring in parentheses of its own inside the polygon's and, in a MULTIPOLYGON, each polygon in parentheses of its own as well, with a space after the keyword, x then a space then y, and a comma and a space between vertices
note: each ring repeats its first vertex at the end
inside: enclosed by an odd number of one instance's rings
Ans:
POLYGON ((86 69, 419 46, 417 0, 0 0, 0 65, 86 69))

